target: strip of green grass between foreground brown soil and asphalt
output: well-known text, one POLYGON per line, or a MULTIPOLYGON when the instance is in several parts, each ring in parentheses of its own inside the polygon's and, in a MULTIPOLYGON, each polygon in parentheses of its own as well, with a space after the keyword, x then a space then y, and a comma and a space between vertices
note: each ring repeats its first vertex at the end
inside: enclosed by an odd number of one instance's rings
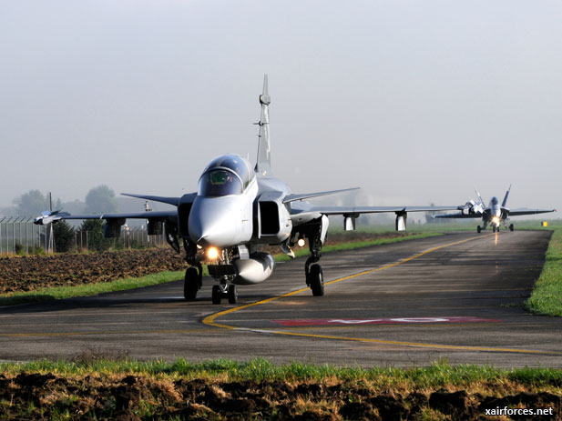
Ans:
POLYGON ((427 367, 373 367, 311 365, 292 362, 276 365, 264 358, 247 362, 230 359, 191 363, 185 359, 174 362, 96 359, 87 362, 42 359, 29 363, 1 363, 0 373, 16 375, 23 372, 53 373, 59 376, 142 375, 158 378, 221 379, 226 381, 315 381, 336 379, 344 382, 368 381, 383 388, 469 386, 515 382, 529 388, 562 387, 562 370, 556 368, 499 369, 492 366, 451 366, 436 362, 427 367))

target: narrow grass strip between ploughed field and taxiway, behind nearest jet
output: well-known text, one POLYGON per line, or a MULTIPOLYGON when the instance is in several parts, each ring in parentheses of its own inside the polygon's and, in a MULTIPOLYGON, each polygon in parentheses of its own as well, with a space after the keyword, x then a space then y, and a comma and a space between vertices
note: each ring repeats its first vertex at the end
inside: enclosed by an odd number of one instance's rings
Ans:
MULTIPOLYGON (((440 236, 437 233, 423 233, 423 234, 413 234, 394 238, 380 238, 373 241, 357 241, 342 243, 333 246, 326 246, 322 248, 322 253, 330 253, 334 251, 342 250, 352 250, 355 248, 362 248, 368 246, 378 246, 389 243, 396 243, 405 240, 414 240, 418 238, 425 238, 429 236, 440 236)), ((297 257, 307 256, 309 253, 308 249, 296 250, 295 255, 297 257)), ((278 262, 287 261, 291 258, 286 255, 276 255, 275 260, 278 262)), ((97 284, 85 284, 81 286, 55 286, 50 288, 41 288, 35 291, 29 292, 17 292, 10 293, 8 295, 0 296, 0 306, 14 306, 18 304, 26 303, 40 303, 49 300, 59 300, 65 298, 72 298, 77 296, 97 296, 98 294, 123 291, 126 289, 140 288, 143 286, 154 286, 158 284, 164 284, 170 281, 177 281, 183 279, 184 272, 160 272, 158 274, 142 276, 142 277, 130 277, 125 279, 118 279, 113 282, 103 282, 97 284)), ((203 276, 209 276, 207 271, 207 266, 203 266, 203 276)))

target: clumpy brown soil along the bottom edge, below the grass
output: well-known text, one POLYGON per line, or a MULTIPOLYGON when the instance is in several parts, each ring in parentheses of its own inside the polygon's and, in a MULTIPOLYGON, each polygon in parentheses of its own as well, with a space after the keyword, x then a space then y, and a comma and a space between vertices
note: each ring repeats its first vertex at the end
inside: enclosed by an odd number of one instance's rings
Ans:
POLYGON ((464 390, 399 394, 346 383, 217 382, 101 375, 0 374, 0 419, 485 420, 486 408, 547 408, 560 419, 561 396, 464 390))

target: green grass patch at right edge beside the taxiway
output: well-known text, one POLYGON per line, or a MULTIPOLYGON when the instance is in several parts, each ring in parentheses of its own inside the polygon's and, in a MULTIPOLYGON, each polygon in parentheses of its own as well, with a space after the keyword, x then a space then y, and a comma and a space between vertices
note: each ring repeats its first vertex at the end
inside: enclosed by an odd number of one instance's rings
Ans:
POLYGON ((562 225, 552 227, 545 266, 526 308, 537 315, 562 316, 562 225))

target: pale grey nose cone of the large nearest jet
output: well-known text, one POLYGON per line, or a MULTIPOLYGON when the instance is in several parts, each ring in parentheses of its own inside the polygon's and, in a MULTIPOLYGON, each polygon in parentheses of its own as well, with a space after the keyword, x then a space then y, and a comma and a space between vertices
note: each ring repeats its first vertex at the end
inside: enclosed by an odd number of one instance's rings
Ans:
POLYGON ((239 244, 240 209, 236 197, 196 197, 189 212, 189 237, 199 246, 239 244))

